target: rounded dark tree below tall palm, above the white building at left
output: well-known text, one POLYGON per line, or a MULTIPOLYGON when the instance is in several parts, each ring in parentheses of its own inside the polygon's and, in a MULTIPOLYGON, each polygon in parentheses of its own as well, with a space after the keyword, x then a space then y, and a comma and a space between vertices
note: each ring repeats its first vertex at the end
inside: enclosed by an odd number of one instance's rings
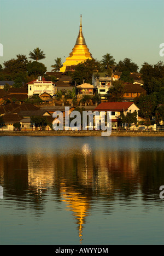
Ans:
POLYGON ((44 66, 43 63, 39 63, 37 61, 33 61, 28 63, 27 65, 27 72, 28 75, 44 75, 46 72, 46 67, 44 66))

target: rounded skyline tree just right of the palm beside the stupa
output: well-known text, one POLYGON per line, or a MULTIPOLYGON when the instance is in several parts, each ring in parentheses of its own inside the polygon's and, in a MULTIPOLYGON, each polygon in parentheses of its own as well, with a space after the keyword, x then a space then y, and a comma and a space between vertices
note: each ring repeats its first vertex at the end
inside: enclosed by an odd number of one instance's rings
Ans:
POLYGON ((116 70, 123 72, 137 72, 138 65, 131 61, 131 59, 125 58, 123 61, 119 61, 118 65, 116 66, 116 70))

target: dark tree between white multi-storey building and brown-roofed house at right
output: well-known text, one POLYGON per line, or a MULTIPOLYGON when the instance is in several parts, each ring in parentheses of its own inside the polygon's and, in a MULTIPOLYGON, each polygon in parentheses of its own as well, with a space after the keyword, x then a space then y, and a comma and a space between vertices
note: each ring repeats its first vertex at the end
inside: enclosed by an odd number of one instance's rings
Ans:
POLYGON ((113 86, 108 91, 108 101, 119 102, 124 98, 124 83, 121 80, 114 81, 113 86))

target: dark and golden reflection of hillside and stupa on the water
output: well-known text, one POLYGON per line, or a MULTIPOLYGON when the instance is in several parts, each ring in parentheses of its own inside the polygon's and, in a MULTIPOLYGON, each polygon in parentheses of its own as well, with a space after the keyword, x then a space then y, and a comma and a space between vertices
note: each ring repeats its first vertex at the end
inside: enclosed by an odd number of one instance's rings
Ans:
POLYGON ((162 148, 129 150, 127 142, 126 149, 120 150, 111 144, 103 147, 99 138, 97 144, 95 139, 88 141, 80 141, 77 147, 63 143, 63 149, 62 142, 52 141, 54 151, 44 140, 44 146, 40 142, 32 150, 25 146, 22 154, 0 155, 5 200, 12 199, 17 210, 31 209, 37 216, 45 213, 48 201, 55 201, 61 211, 63 203, 72 212, 80 243, 87 217, 99 207, 104 214, 112 214, 116 203, 128 208, 139 199, 143 205, 157 205, 159 187, 164 184, 162 148))

